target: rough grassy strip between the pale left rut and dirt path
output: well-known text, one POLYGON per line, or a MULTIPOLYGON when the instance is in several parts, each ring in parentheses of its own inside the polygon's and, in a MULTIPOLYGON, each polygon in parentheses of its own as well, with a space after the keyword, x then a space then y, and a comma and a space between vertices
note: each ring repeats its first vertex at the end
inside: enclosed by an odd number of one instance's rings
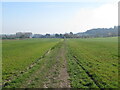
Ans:
POLYGON ((62 41, 52 47, 50 53, 38 60, 36 65, 30 70, 21 74, 19 77, 14 78, 11 82, 7 82, 5 88, 43 88, 44 82, 47 80, 47 75, 50 73, 53 75, 56 74, 51 72, 51 69, 54 65, 59 65, 56 56, 61 47, 61 42, 62 41))

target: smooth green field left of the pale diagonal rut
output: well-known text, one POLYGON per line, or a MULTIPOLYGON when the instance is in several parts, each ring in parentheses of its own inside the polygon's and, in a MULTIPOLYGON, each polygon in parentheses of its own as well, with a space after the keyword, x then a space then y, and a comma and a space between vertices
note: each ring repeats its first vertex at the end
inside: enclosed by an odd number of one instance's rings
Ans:
POLYGON ((25 70, 59 41, 60 39, 3 40, 3 81, 25 70))

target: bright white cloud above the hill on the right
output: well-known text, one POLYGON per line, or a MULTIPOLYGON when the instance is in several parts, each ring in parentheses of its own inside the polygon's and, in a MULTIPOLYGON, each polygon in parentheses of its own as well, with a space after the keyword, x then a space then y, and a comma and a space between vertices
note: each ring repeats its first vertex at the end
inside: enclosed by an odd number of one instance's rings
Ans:
POLYGON ((91 28, 109 28, 118 25, 118 4, 98 8, 82 8, 65 25, 67 31, 83 32, 91 28))

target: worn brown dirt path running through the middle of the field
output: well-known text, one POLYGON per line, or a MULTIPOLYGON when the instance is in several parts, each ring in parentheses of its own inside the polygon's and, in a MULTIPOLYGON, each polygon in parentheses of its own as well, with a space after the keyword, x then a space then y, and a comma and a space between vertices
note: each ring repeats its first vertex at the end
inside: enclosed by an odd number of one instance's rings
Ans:
POLYGON ((69 75, 67 73, 66 61, 66 47, 65 43, 59 48, 56 57, 56 64, 50 70, 45 82, 45 88, 70 88, 69 75))

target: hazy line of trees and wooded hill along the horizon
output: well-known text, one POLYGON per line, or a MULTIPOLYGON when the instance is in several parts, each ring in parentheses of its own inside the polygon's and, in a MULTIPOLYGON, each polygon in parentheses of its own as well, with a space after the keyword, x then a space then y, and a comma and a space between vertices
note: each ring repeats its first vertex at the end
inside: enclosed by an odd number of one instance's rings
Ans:
POLYGON ((16 34, 2 34, 1 39, 24 39, 24 38, 94 38, 94 37, 114 37, 120 36, 119 26, 114 26, 114 28, 96 28, 90 29, 86 32, 76 33, 73 32, 65 34, 32 34, 32 32, 17 32, 16 34))

